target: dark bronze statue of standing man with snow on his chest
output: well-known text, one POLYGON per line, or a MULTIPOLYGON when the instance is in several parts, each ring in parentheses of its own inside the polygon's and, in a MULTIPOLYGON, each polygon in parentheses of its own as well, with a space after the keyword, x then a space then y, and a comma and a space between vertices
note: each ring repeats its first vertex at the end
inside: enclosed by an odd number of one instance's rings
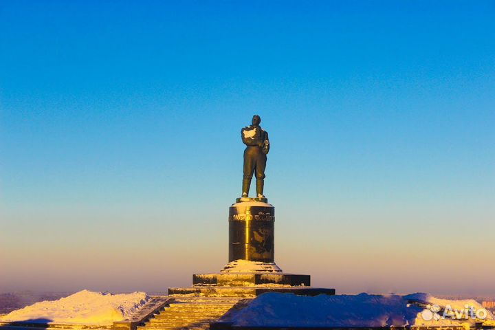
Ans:
POLYGON ((248 197, 253 173, 256 175, 256 195, 263 196, 265 179, 266 155, 270 151, 268 133, 261 129, 259 115, 253 115, 252 125, 241 129, 241 138, 246 145, 244 150, 244 177, 242 197, 248 197))

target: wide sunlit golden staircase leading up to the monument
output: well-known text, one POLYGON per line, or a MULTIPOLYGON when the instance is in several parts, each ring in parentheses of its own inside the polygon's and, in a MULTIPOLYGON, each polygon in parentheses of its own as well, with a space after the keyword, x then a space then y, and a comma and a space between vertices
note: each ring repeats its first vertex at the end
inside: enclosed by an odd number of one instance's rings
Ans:
POLYGON ((249 300, 240 297, 175 297, 169 307, 138 326, 137 330, 209 329, 211 322, 219 320, 234 306, 234 309, 243 307, 249 300))

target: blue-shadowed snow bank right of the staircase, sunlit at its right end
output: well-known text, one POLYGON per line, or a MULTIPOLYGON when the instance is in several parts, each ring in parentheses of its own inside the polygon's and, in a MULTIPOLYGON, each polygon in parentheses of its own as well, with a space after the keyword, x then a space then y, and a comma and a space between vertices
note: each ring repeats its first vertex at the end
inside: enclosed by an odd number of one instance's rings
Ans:
MULTIPOLYGON (((397 295, 340 295, 315 297, 267 293, 257 297, 244 309, 224 316, 222 322, 238 327, 403 327, 408 325, 463 326, 466 320, 440 319, 426 321, 424 310, 408 304, 408 297, 397 295)), ((440 302, 423 294, 422 298, 440 302)), ((465 300, 441 300, 464 306, 465 300)), ((474 300, 470 300, 472 303, 474 300)), ((479 305, 478 303, 476 303, 479 305)), ((445 304, 446 305, 446 304, 445 304)), ((493 319, 490 314, 489 318, 493 319)))

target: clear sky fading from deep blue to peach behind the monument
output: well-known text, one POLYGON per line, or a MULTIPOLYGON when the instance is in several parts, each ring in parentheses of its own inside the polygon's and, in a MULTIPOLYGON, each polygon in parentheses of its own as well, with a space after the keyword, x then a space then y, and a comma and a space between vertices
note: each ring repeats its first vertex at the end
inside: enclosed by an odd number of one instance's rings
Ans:
POLYGON ((0 1, 0 292, 228 261, 242 126, 276 263, 495 296, 494 1, 0 1))

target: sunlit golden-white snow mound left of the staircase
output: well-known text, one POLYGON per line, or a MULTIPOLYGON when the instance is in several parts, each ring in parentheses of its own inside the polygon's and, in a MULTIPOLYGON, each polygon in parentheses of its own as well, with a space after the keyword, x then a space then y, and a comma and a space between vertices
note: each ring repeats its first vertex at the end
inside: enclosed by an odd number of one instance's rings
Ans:
POLYGON ((0 321, 27 321, 72 325, 112 325, 129 318, 150 298, 144 292, 110 294, 83 290, 54 301, 42 301, 17 309, 0 321))

